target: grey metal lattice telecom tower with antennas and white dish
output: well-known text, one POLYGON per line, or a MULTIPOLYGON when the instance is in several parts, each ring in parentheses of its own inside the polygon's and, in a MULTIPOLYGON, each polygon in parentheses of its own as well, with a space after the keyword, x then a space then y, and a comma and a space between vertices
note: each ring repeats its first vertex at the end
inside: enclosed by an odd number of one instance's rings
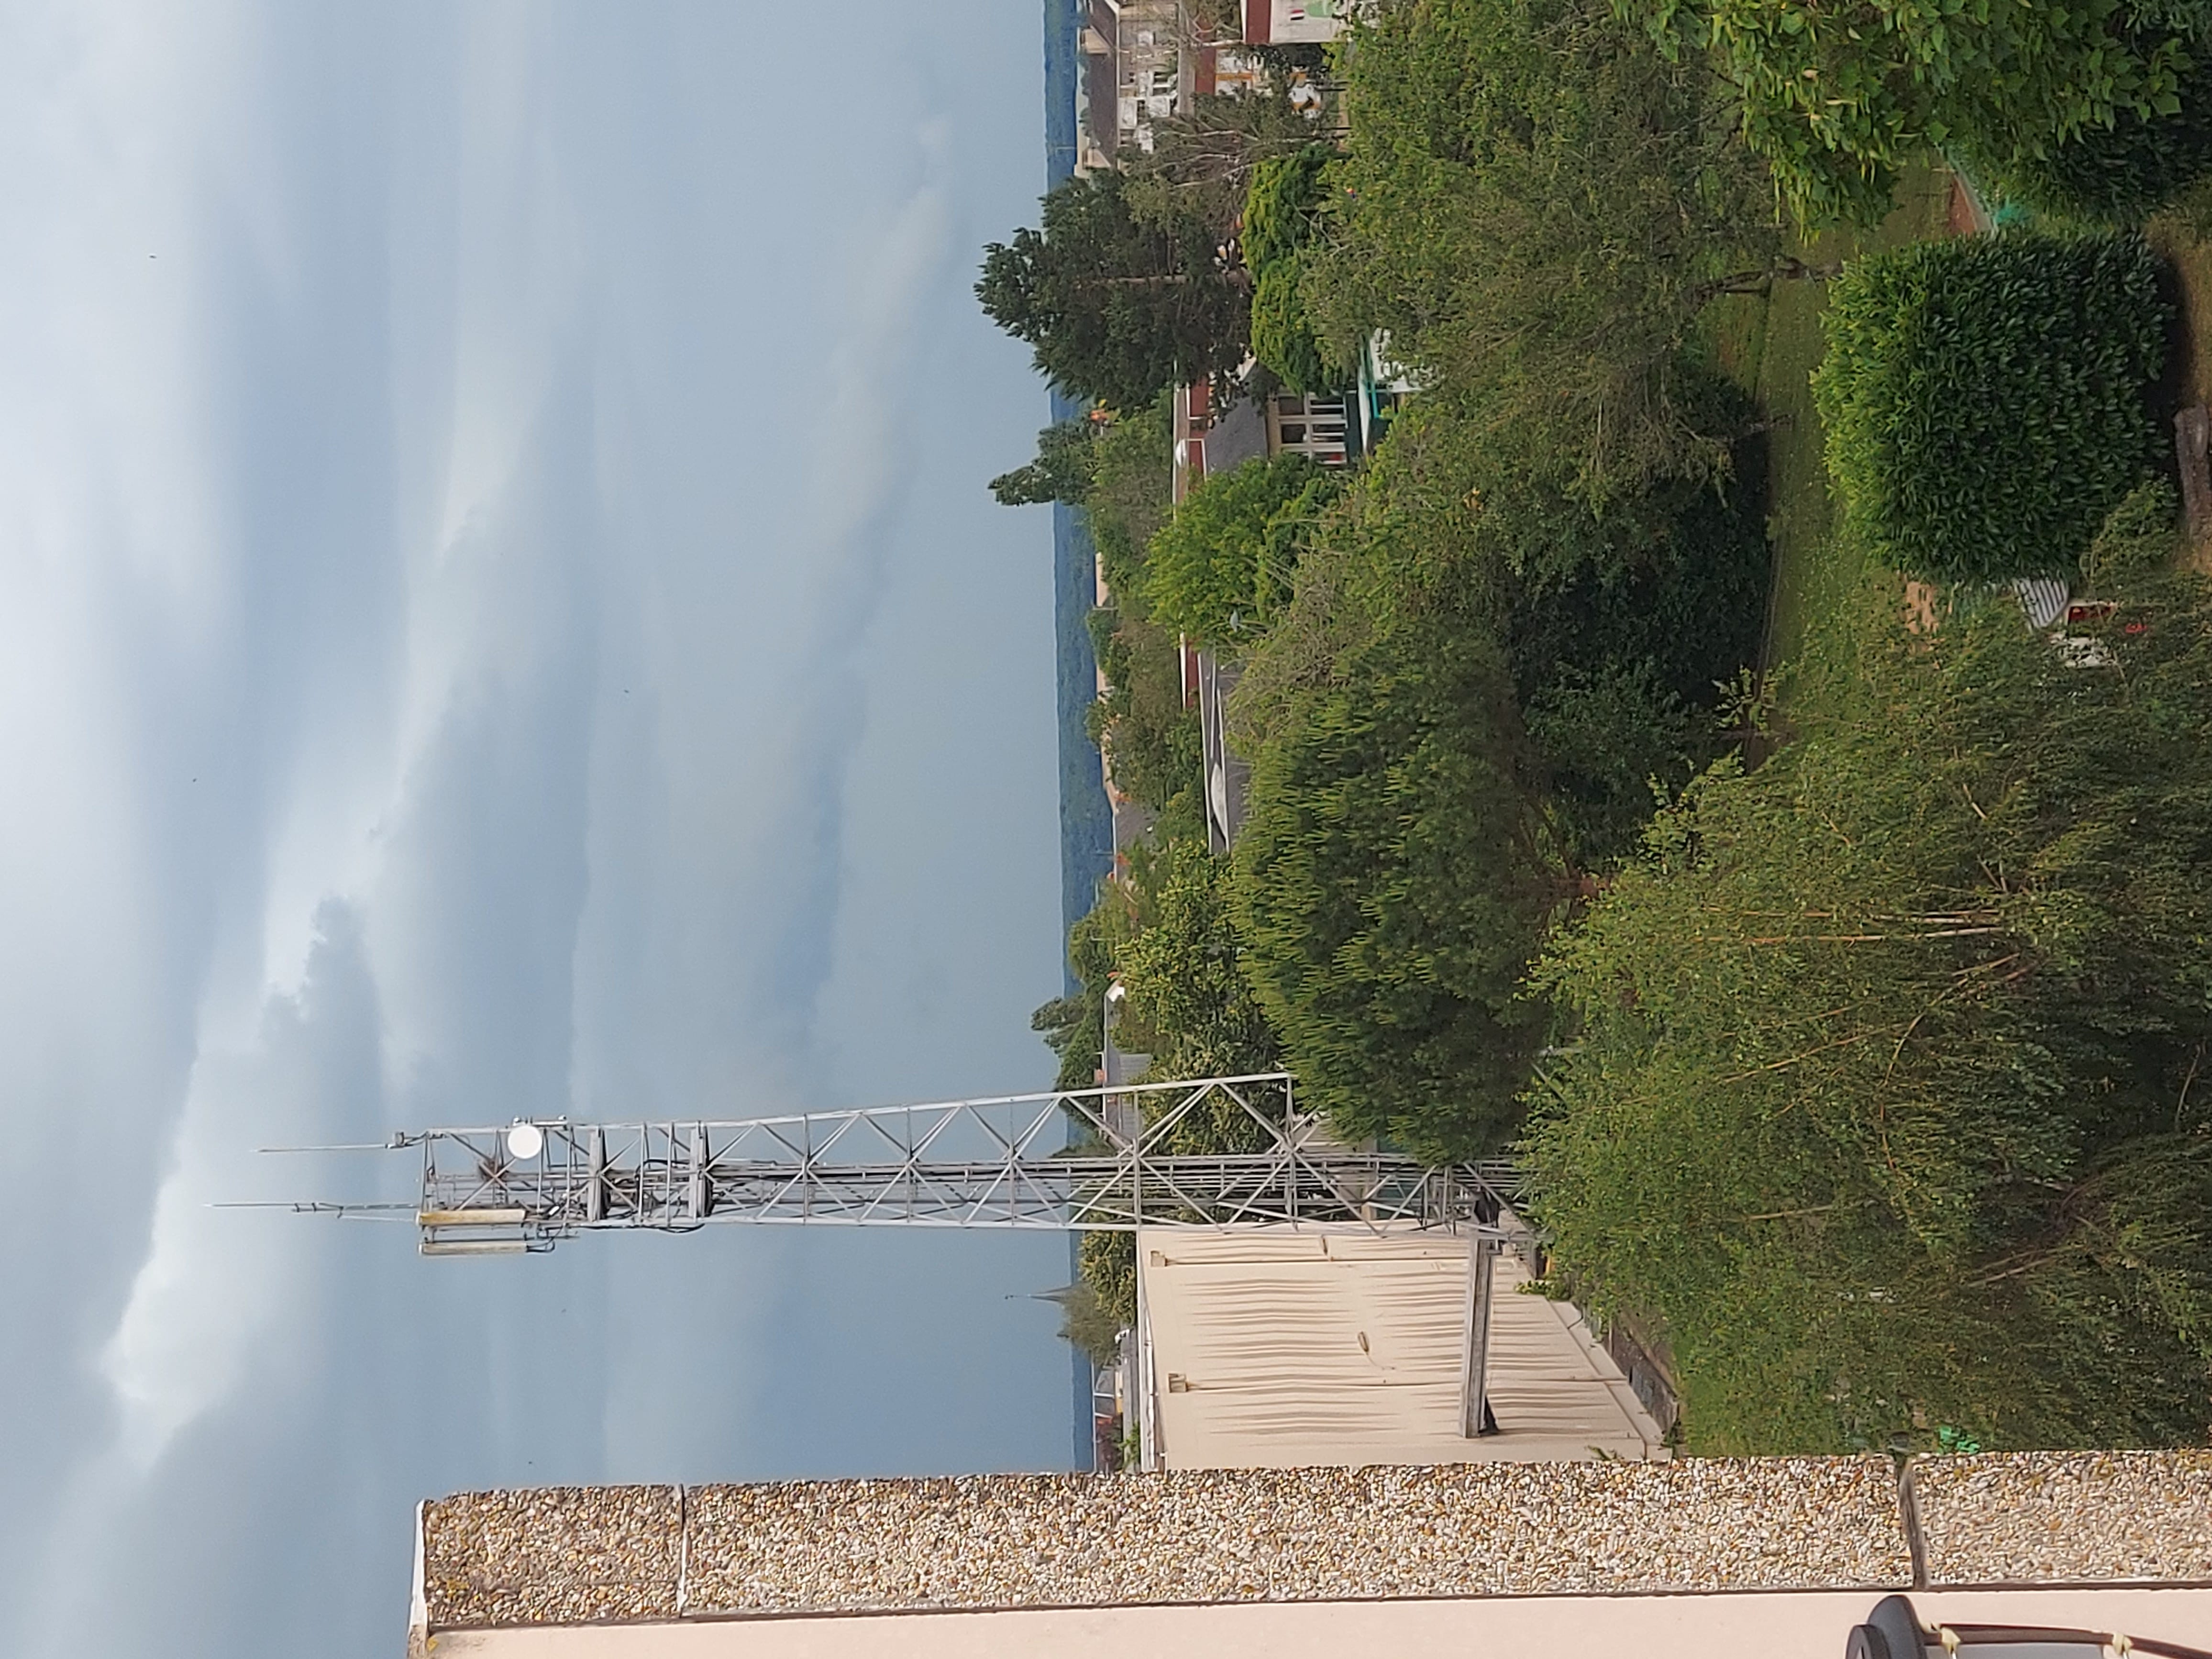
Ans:
POLYGON ((710 1223, 1133 1232, 1365 1223, 1502 1237, 1509 1164, 1343 1146, 1281 1073, 739 1121, 434 1128, 425 1254, 710 1223), (1190 1144, 1248 1146, 1225 1155, 1190 1144))

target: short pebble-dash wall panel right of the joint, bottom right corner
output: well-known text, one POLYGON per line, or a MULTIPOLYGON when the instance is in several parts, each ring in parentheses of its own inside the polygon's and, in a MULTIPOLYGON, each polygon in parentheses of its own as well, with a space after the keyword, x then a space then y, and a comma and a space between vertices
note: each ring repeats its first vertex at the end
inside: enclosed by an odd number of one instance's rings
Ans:
POLYGON ((2212 1582, 2212 1451, 1916 1458, 1931 1584, 2212 1582))

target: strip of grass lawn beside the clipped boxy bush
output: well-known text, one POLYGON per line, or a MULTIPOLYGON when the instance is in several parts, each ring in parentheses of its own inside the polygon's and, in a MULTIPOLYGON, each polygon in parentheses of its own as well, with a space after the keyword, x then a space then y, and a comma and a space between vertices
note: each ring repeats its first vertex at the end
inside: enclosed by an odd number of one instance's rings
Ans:
MULTIPOLYGON (((1898 206, 1871 232, 1827 232, 1798 254, 1832 265, 1876 248, 1942 237, 1949 230, 1951 175, 1916 168, 1898 186, 1898 206)), ((1820 363, 1820 307, 1827 290, 1814 281, 1774 283, 1767 296, 1719 301, 1703 319, 1703 336, 1719 367, 1752 394, 1767 420, 1767 544, 1774 582, 1761 661, 1801 659, 1818 644, 1820 626, 1865 591, 1867 566, 1836 533, 1820 456, 1820 416, 1812 407, 1812 372, 1820 363)), ((1902 588, 1902 584, 1900 584, 1902 588)), ((1787 684, 1783 688, 1787 703, 1787 684)))

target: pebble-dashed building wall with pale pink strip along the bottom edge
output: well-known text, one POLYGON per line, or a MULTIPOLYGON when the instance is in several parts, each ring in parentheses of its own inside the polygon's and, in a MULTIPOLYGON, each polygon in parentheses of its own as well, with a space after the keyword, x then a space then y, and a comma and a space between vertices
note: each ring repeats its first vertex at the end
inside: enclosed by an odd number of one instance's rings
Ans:
POLYGON ((2006 1588, 2017 1608, 2024 1586, 2121 1584, 2139 1588, 2101 1597, 2126 1617, 2090 1610, 2093 1593, 2053 1597, 2039 1621, 2212 1641, 2212 1590, 2141 1588, 2212 1586, 2212 1453, 467 1493, 418 1511, 409 1646, 487 1659, 1838 1655, 1882 1590, 1940 1608, 1971 1601, 1947 1590, 2006 1588), (1712 1590, 1734 1595, 1683 1599, 1712 1590), (1778 1590, 1792 1595, 1756 1595, 1778 1590), (1672 1599, 1624 1599, 1637 1595, 1672 1599), (1829 1628, 1823 1646, 1776 1641, 1807 1628, 1829 1628), (1484 1630, 1502 1646, 1475 1646, 1484 1630), (1593 1646, 1604 1630, 1615 1641, 1593 1646), (1736 1639, 1717 1644, 1728 1630, 1736 1639))

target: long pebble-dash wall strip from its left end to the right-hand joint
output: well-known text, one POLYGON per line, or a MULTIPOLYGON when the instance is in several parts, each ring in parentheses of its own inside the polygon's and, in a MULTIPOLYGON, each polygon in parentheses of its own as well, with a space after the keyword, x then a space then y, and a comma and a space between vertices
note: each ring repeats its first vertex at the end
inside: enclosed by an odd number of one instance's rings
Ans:
POLYGON ((431 1628, 1911 1584, 1880 1458, 467 1493, 422 1548, 431 1628))

